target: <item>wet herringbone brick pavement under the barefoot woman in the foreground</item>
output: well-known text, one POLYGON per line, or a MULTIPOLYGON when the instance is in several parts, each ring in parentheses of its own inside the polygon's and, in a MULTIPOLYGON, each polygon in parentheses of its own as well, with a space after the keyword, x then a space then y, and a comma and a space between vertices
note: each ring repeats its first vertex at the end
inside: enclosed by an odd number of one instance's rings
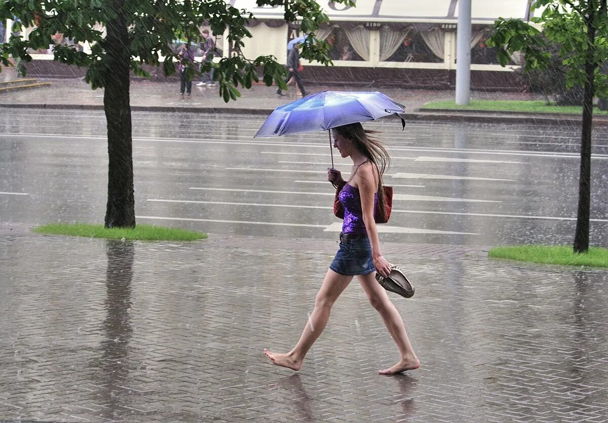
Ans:
POLYGON ((336 242, 117 242, 2 229, 0 420, 608 421, 605 270, 384 244, 420 370, 353 282, 301 371, 272 366, 336 242))

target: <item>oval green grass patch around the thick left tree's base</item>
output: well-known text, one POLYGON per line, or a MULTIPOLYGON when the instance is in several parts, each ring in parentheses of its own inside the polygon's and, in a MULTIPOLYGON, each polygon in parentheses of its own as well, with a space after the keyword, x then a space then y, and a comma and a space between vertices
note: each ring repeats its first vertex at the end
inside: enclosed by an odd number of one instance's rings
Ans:
POLYGON ((136 225, 133 229, 106 229, 103 225, 85 223, 50 223, 35 227, 33 232, 54 235, 86 236, 87 238, 145 239, 148 241, 193 241, 207 238, 203 232, 154 225, 136 225))

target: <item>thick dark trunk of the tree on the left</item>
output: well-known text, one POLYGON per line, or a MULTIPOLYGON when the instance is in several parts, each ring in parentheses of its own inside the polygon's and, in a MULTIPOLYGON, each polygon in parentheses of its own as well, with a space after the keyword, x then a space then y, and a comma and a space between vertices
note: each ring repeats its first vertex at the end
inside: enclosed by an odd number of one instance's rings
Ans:
POLYGON ((108 21, 103 108, 108 122, 108 205, 105 227, 134 227, 133 141, 129 99, 128 32, 122 7, 125 0, 111 0, 116 18, 108 21))

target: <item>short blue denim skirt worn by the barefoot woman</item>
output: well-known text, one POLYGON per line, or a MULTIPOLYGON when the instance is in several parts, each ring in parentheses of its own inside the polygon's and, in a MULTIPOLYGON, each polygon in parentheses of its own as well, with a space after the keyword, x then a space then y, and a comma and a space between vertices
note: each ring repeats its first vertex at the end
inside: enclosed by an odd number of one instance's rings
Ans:
POLYGON ((340 249, 330 264, 340 275, 367 275, 376 270, 371 260, 371 245, 367 235, 345 237, 340 233, 340 249))

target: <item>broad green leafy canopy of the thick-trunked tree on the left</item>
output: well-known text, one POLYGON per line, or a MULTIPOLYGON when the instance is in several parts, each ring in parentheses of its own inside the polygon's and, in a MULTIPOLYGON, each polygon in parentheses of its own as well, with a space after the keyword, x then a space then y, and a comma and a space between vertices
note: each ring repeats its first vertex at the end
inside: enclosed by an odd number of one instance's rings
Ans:
MULTIPOLYGON (((336 0, 336 3, 354 5, 352 0, 336 0)), ((300 31, 311 34, 311 42, 303 47, 302 57, 331 64, 329 46, 325 41, 314 38, 314 31, 328 17, 314 0, 257 0, 258 6, 281 6, 285 8, 285 20, 300 21, 300 31)), ((108 72, 106 54, 107 40, 102 31, 108 22, 116 22, 117 15, 123 16, 123 24, 128 27, 128 39, 122 40, 130 53, 130 67, 136 75, 149 77, 144 65, 161 66, 165 75, 175 72, 174 61, 178 60, 171 49, 174 40, 198 41, 200 28, 209 27, 214 34, 224 34, 233 49, 240 50, 246 38, 251 36, 246 23, 255 19, 252 13, 230 6, 224 0, 0 0, 0 19, 18 18, 12 32, 22 32, 26 27, 34 27, 28 40, 12 37, 9 43, 0 46, 0 61, 9 66, 9 55, 27 62, 32 57, 27 49, 46 49, 55 33, 75 43, 89 43, 91 53, 78 52, 68 46, 56 46, 55 60, 61 63, 86 67, 85 80, 93 89, 105 86, 108 72), (164 62, 161 62, 164 57, 164 62)), ((222 58, 219 64, 204 63, 202 71, 216 67, 219 93, 225 101, 236 100, 240 96, 238 86, 250 88, 258 81, 257 70, 261 69, 262 79, 268 86, 274 80, 284 86, 283 64, 273 56, 249 59, 237 57, 222 58)), ((1 67, 0 67, 1 70, 1 67)), ((23 70, 24 71, 24 70, 23 70)), ((196 72, 187 70, 192 77, 196 72)))

